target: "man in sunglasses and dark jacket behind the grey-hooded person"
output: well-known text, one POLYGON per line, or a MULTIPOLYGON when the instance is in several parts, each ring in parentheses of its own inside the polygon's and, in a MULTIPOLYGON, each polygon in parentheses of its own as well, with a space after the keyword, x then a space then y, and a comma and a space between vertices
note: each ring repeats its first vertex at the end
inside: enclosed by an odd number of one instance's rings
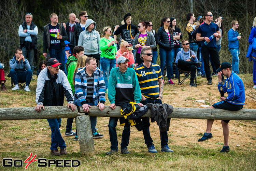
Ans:
POLYGON ((81 11, 79 13, 81 22, 75 25, 74 28, 74 46, 77 46, 79 35, 82 31, 85 30, 86 20, 88 19, 88 14, 86 11, 81 11))

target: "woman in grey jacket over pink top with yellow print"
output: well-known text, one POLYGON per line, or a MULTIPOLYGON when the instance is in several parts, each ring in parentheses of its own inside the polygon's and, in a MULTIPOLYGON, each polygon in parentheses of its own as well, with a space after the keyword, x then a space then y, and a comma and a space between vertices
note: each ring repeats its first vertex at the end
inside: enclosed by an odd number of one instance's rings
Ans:
POLYGON ((138 25, 139 33, 136 34, 132 48, 136 49, 136 63, 138 66, 143 63, 140 58, 140 51, 142 47, 150 47, 154 49, 156 47, 156 40, 152 33, 147 31, 147 24, 145 22, 140 22, 138 25))

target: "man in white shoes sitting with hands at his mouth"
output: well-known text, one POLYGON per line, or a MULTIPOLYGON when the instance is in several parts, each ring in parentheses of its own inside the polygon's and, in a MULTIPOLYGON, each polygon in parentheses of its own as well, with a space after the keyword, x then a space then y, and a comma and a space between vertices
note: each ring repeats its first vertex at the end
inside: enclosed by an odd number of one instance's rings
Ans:
POLYGON ((15 49, 15 56, 9 61, 10 63, 10 76, 15 86, 12 90, 19 90, 18 83, 26 82, 25 91, 30 91, 28 86, 32 78, 32 70, 29 62, 22 55, 22 49, 15 49))

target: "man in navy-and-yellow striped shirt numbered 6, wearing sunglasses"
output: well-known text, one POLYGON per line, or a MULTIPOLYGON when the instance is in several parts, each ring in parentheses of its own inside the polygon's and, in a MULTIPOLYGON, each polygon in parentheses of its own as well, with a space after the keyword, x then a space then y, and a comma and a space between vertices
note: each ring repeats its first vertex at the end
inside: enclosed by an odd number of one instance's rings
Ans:
MULTIPOLYGON (((162 73, 159 65, 151 63, 152 61, 152 49, 150 47, 142 47, 141 59, 143 63, 135 69, 136 75, 141 88, 141 103, 153 103, 162 104, 162 93, 163 93, 163 81, 162 73)), ((148 152, 157 153, 153 140, 150 136, 150 119, 142 119, 143 136, 145 144, 147 145, 148 152)), ((162 152, 173 152, 168 146, 168 133, 167 131, 161 132, 161 151, 162 152)))

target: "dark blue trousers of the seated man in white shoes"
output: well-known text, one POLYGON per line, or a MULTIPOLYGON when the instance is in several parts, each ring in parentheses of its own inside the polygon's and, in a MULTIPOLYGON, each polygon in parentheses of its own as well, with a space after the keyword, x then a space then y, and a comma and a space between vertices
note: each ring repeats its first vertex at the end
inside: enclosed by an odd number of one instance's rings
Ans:
POLYGON ((28 69, 24 72, 17 72, 15 69, 11 69, 10 76, 14 84, 26 82, 26 86, 29 86, 32 78, 32 71, 31 69, 28 69))

